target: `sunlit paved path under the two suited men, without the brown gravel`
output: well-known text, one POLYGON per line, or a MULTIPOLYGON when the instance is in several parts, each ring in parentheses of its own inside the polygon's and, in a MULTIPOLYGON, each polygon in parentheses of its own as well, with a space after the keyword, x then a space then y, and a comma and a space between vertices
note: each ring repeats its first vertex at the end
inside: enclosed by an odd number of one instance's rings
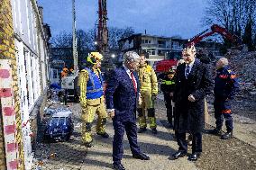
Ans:
MULTIPOLYGON (((75 121, 75 133, 69 142, 58 142, 50 144, 39 144, 35 161, 35 168, 50 170, 102 170, 112 169, 112 141, 114 130, 112 122, 109 120, 106 126, 107 132, 110 133, 109 139, 95 137, 95 146, 93 148, 85 148, 80 140, 81 122, 79 119, 79 106, 75 104, 71 106, 73 109, 75 121), (53 157, 50 157, 52 154, 53 157), (41 160, 41 161, 40 161, 41 160), (40 165, 41 166, 36 166, 40 165)), ((171 160, 171 154, 178 149, 177 143, 173 140, 172 130, 168 130, 161 126, 158 127, 157 135, 151 134, 151 130, 139 135, 139 145, 143 152, 147 153, 150 161, 142 161, 133 159, 128 140, 124 138, 124 155, 123 166, 126 169, 197 169, 196 166, 187 161, 187 157, 178 160, 171 160)), ((95 131, 95 129, 93 129, 95 131)))

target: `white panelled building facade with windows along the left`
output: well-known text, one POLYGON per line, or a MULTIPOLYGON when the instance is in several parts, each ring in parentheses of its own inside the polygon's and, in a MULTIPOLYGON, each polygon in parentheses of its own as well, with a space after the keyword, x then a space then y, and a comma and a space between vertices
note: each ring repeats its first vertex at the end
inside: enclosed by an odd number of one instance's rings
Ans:
MULTIPOLYGON (((37 118, 40 98, 47 87, 49 49, 47 35, 41 22, 41 13, 35 0, 11 0, 14 16, 14 45, 18 65, 19 94, 23 122, 23 146, 25 168, 32 167, 32 142, 37 128, 33 120, 37 118)), ((36 123, 36 122, 35 122, 36 123)))

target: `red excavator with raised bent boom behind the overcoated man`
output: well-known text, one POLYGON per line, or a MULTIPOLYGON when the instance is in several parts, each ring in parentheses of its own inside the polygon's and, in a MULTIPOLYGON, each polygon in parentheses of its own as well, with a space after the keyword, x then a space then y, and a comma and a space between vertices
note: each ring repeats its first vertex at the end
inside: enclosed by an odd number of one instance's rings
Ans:
MULTIPOLYGON (((191 40, 189 40, 187 44, 185 44, 185 47, 189 47, 192 44, 196 45, 199 41, 205 39, 206 37, 212 36, 215 33, 222 35, 226 40, 230 40, 235 47, 239 47, 240 45, 242 45, 242 40, 238 36, 230 33, 224 27, 214 24, 211 26, 210 29, 206 29, 205 31, 202 31, 201 33, 193 37, 191 40)), ((156 72, 160 74, 168 71, 170 67, 177 66, 177 65, 178 65, 178 60, 176 58, 161 60, 156 64, 156 72)))

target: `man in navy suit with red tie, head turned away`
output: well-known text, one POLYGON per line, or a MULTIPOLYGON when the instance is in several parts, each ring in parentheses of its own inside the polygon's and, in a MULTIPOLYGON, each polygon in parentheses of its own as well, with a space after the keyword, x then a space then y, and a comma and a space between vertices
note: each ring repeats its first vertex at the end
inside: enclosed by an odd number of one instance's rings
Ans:
POLYGON ((139 80, 134 72, 140 61, 140 56, 128 51, 123 56, 123 67, 116 68, 109 78, 105 90, 107 112, 113 118, 113 165, 114 169, 125 169, 121 164, 123 157, 123 135, 127 138, 134 158, 149 160, 143 154, 137 143, 136 103, 139 99, 139 80))

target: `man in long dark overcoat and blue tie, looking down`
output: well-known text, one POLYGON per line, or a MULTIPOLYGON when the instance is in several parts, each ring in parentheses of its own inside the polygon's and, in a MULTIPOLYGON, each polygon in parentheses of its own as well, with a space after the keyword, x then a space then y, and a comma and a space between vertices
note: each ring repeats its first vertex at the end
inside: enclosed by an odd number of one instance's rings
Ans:
POLYGON ((204 98, 213 88, 213 79, 206 64, 196 57, 194 45, 183 50, 185 63, 177 68, 174 102, 176 114, 174 130, 178 141, 178 152, 174 158, 187 155, 186 132, 192 134, 191 161, 197 161, 202 152, 202 130, 204 128, 204 98))

